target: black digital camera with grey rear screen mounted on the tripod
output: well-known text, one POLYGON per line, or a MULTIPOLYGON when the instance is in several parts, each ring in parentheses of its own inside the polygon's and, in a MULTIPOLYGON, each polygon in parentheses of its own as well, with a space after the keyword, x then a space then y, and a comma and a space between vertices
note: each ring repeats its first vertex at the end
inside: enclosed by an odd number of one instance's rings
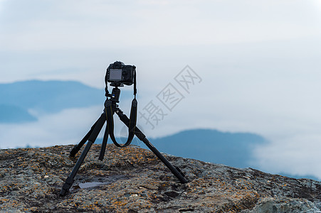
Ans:
POLYGON ((134 83, 135 69, 135 66, 125 65, 120 61, 113 62, 107 67, 105 81, 132 85, 134 83))

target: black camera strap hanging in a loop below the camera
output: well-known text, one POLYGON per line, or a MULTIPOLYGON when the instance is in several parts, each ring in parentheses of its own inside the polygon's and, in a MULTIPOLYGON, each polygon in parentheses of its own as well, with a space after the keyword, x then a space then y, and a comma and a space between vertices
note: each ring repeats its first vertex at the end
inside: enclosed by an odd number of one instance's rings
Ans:
MULTIPOLYGON (((106 89, 107 90, 107 89, 106 89)), ((137 99, 136 99, 136 71, 134 72, 134 99, 132 99, 132 107, 130 109, 130 124, 128 126, 128 138, 124 145, 120 145, 117 143, 115 135, 114 135, 114 118, 112 111, 112 101, 110 99, 107 99, 105 102, 105 113, 107 118, 107 129, 108 133, 110 135, 110 138, 112 139, 112 142, 115 144, 115 146, 118 147, 126 147, 129 146, 130 143, 132 143, 132 139, 135 136, 135 129, 136 129, 136 123, 137 123, 137 99)))

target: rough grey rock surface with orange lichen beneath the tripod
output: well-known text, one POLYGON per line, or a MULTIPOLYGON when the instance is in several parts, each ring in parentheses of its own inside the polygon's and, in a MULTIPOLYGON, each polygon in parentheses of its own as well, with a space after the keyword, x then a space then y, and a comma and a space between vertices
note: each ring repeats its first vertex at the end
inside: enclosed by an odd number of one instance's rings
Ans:
POLYGON ((73 146, 0 150, 0 212, 321 212, 321 182, 166 155, 177 178, 150 151, 93 145, 70 193, 60 197, 73 146))

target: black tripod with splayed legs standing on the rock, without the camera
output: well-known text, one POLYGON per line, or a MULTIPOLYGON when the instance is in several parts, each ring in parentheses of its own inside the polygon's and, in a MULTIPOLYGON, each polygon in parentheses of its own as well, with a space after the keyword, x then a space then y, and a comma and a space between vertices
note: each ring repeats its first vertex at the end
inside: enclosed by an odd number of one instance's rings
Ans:
MULTIPOLYGON (((73 150, 70 151, 70 157, 74 157, 75 154, 78 153, 80 148, 85 144, 85 142, 88 141, 87 145, 85 146, 85 149, 83 150, 83 152, 81 153, 80 157, 78 158, 78 161, 75 164, 75 167, 73 168, 73 171, 70 173, 68 178, 65 180, 65 184, 63 185, 63 187, 62 187, 62 189, 60 191, 60 196, 66 195, 68 190, 70 189, 70 187, 73 185, 73 182, 74 182, 73 178, 75 178, 75 175, 77 174, 77 172, 78 172, 78 170, 80 168, 80 165, 83 163, 83 160, 85 160, 85 157, 86 157, 88 151, 90 150, 90 147, 93 145, 93 143, 95 143, 95 140, 98 137, 98 134, 100 133, 100 131, 102 129, 102 126, 104 126, 105 121, 107 120, 107 108, 108 107, 110 107, 110 109, 112 109, 112 114, 114 114, 116 112, 116 114, 119 116, 120 120, 128 128, 130 128, 130 126, 131 126, 130 119, 128 119, 128 117, 125 114, 123 114, 122 110, 120 110, 118 105, 117 105, 117 103, 119 103, 119 98, 120 98, 120 89, 118 89, 118 87, 121 87, 121 85, 120 84, 114 84, 113 86, 115 86, 115 88, 112 89, 112 94, 106 94, 107 100, 105 102, 105 109, 104 109, 103 113, 101 114, 100 118, 95 122, 95 124, 93 124, 93 126, 90 129, 90 131, 88 131, 88 133, 80 141, 80 143, 78 143, 78 145, 74 146, 73 150), (108 99, 108 97, 110 97, 110 99, 108 99), (111 103, 111 106, 110 106, 110 103, 111 103)), ((108 121, 107 121, 107 124, 108 124, 108 121)), ((104 134, 104 137, 102 139, 102 147, 100 149, 100 155, 99 155, 99 158, 98 158, 99 160, 102 160, 104 158, 104 155, 105 155, 105 149, 106 149, 106 146, 107 146, 108 133, 110 132, 109 129, 108 129, 108 126, 110 126, 110 125, 106 125, 105 134, 104 134)), ((140 141, 144 142, 146 144, 146 146, 155 155, 157 155, 159 160, 162 160, 164 165, 166 165, 167 168, 169 168, 169 170, 172 171, 172 173, 179 179, 179 181, 181 183, 188 182, 188 180, 186 180, 186 178, 184 178, 184 174, 181 173, 181 170, 179 170, 179 168, 174 167, 171 163, 169 163, 169 161, 166 158, 164 158, 164 156, 161 153, 159 153, 157 148, 155 148, 152 145, 152 143, 150 143, 147 140, 147 138, 144 135, 144 133, 142 133, 142 131, 140 131, 140 129, 138 129, 136 126, 135 126, 134 133, 137 136, 137 138, 140 139, 140 141)), ((127 145, 129 145, 129 144, 127 144, 127 145)))

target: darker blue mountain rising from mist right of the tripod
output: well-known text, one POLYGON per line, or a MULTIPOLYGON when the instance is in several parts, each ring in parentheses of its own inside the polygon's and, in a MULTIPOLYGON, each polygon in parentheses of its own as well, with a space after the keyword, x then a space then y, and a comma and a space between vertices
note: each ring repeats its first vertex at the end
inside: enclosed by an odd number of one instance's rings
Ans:
MULTIPOLYGON (((117 140, 125 143, 126 139, 118 138, 117 140)), ((228 133, 212 129, 186 130, 172 136, 148 139, 163 153, 221 163, 236 168, 253 166, 251 165, 251 161, 254 160, 253 148, 267 142, 265 138, 254 133, 228 133)), ((101 141, 100 138, 96 143, 101 143, 101 141)), ((108 143, 112 143, 110 138, 108 143)), ((132 144, 147 148, 136 137, 132 144)))

